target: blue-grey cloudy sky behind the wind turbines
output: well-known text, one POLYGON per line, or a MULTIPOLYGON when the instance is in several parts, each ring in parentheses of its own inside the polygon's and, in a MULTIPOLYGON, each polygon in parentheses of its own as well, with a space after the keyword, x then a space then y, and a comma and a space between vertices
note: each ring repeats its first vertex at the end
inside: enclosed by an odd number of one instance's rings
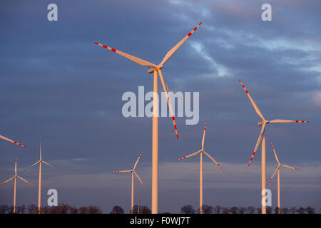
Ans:
MULTIPOLYGON (((27 145, 0 143, 0 181, 43 158, 46 191, 58 202, 94 204, 110 212, 131 204, 131 176, 113 170, 137 167, 147 190, 135 180, 135 202, 151 207, 151 118, 125 118, 123 93, 151 91, 143 67, 96 46, 103 43, 152 63, 203 24, 163 68, 174 92, 199 92, 200 120, 185 125, 160 118, 159 211, 198 207, 199 157, 176 162, 200 148, 225 168, 204 158, 204 204, 260 205, 260 152, 246 167, 260 128, 240 78, 265 118, 310 120, 309 124, 267 126, 280 162, 303 172, 281 170, 284 207, 321 208, 321 2, 284 0, 222 1, 3 1, 0 7, 0 134, 27 145), (48 21, 47 6, 58 6, 48 21), (272 21, 262 21, 270 3, 272 21)), ((161 90, 161 86, 160 86, 161 90)), ((147 103, 146 103, 147 104, 147 103)), ((258 150, 260 151, 260 150, 258 150)), ((267 179, 275 158, 267 144, 267 179)), ((37 203, 38 168, 21 174, 36 187, 18 183, 17 204, 37 203)), ((272 206, 276 206, 276 180, 272 206)), ((0 204, 12 204, 13 183, 1 186, 0 204)))

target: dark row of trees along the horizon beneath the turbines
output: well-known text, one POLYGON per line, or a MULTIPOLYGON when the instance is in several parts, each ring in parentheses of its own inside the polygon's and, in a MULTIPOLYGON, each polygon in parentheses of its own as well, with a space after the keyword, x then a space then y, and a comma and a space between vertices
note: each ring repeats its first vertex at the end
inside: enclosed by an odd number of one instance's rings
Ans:
MULTIPOLYGON (((38 207, 34 204, 26 207, 25 205, 16 207, 16 214, 36 214, 38 207)), ((73 207, 68 204, 59 204, 53 207, 41 207, 41 214, 102 214, 101 208, 89 205, 87 207, 73 207)), ((278 207, 266 207, 267 214, 277 214, 278 207)), ((281 208, 282 214, 315 214, 313 207, 284 207, 281 208)), ((14 206, 0 205, 0 214, 13 214, 14 206)), ((116 205, 111 209, 110 214, 124 214, 125 210, 116 205)), ((131 213, 131 210, 128 212, 131 213)), ((181 214, 199 214, 200 209, 195 209, 192 205, 184 205, 180 207, 181 214)), ((151 209, 147 206, 135 205, 133 207, 133 214, 151 214, 151 209)), ((163 212, 163 214, 170 214, 170 212, 163 212)), ((261 214, 260 207, 222 207, 203 205, 203 214, 261 214)))

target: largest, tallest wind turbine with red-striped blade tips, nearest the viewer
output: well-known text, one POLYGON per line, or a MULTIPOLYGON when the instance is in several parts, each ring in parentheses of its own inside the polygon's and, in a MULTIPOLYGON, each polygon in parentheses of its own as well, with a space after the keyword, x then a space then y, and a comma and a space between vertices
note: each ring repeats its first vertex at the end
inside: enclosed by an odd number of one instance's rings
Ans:
MULTIPOLYGON (((200 24, 202 24, 202 22, 200 22, 200 24)), ((198 24, 198 26, 200 26, 200 24, 198 24)), ((153 76, 153 92, 154 92, 153 93, 153 135, 152 135, 152 213, 153 214, 158 214, 158 74, 159 74, 159 77, 161 78, 163 90, 165 92, 168 107, 170 109, 170 114, 172 116, 176 138, 178 138, 174 112, 172 110, 170 97, 168 96, 168 87, 164 81, 161 68, 163 68, 163 65, 168 61, 168 59, 171 56, 173 56, 173 53, 175 53, 175 51, 177 51, 178 48, 180 48, 180 46, 182 46, 182 44, 185 43, 185 41, 188 38, 190 38, 190 36, 192 36, 192 34, 198 28, 198 26, 196 26, 180 42, 178 42, 175 46, 173 46, 173 48, 171 48, 170 51, 168 51, 168 53, 166 53, 165 57, 163 58, 163 61, 161 61, 161 63, 158 65, 156 65, 154 63, 150 63, 148 61, 145 61, 141 58, 131 56, 128 53, 118 51, 115 48, 111 48, 111 47, 105 46, 101 43, 94 42, 98 46, 102 46, 103 48, 113 51, 114 53, 118 53, 119 55, 121 55, 125 58, 128 58, 131 61, 134 61, 142 66, 151 67, 148 69, 147 72, 154 74, 154 76, 153 76)))

